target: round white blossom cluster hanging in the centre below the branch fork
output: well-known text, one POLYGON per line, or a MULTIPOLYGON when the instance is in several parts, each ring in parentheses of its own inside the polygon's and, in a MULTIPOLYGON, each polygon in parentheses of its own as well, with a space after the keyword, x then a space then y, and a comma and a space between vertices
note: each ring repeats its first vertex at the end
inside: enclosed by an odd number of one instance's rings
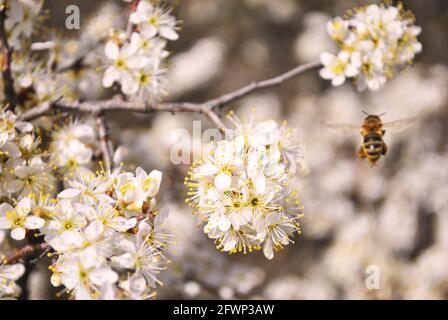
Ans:
POLYGON ((268 259, 300 233, 302 204, 288 181, 303 159, 294 130, 273 120, 241 121, 231 137, 211 142, 186 178, 187 203, 204 232, 229 253, 263 248, 268 259))

